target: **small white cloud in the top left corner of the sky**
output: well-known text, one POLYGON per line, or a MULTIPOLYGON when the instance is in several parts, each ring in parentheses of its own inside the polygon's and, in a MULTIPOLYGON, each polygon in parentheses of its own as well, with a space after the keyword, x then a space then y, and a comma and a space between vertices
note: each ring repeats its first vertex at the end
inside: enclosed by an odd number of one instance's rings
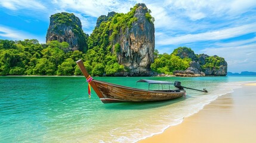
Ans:
POLYGON ((1 0, 0 5, 10 10, 30 8, 33 10, 44 10, 46 7, 40 2, 33 0, 1 0))

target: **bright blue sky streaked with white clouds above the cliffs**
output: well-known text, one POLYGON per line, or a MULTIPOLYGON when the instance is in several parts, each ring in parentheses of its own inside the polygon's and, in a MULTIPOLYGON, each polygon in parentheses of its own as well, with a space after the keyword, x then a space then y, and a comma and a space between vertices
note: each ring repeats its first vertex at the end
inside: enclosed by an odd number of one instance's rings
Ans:
POLYGON ((137 3, 146 4, 155 17, 160 53, 187 46, 196 54, 224 57, 228 71, 256 71, 255 0, 1 0, 0 39, 45 43, 50 16, 63 11, 79 17, 90 35, 100 15, 127 13, 137 3))

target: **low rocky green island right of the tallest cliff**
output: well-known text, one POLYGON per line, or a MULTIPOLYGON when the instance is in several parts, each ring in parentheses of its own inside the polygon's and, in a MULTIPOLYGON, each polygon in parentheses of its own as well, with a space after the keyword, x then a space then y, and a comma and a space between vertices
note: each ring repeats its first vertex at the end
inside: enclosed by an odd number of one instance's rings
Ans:
POLYGON ((158 54, 151 69, 174 76, 226 76, 227 62, 217 55, 195 54, 191 48, 179 47, 171 54, 158 54))

